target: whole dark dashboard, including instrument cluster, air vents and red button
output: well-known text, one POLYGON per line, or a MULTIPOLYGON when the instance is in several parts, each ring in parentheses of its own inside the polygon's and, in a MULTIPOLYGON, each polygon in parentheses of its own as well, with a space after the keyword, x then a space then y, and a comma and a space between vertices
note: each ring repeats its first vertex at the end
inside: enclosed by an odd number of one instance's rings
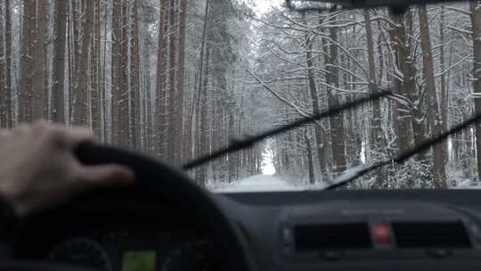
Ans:
MULTIPOLYGON (((224 193, 214 198, 258 270, 481 267, 477 191, 224 193)), ((135 193, 103 194, 51 210, 26 221, 18 236, 11 248, 15 259, 106 271, 224 270, 219 260, 224 251, 202 221, 192 220, 189 209, 135 193)))

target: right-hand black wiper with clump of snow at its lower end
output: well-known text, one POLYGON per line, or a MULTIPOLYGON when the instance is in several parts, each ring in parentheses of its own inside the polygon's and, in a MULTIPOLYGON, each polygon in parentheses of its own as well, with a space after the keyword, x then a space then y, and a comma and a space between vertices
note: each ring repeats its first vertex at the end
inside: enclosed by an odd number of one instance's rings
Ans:
POLYGON ((377 168, 381 168, 386 166, 387 164, 392 163, 393 161, 396 164, 401 164, 405 160, 408 160, 412 158, 412 156, 420 153, 420 152, 425 152, 432 146, 436 144, 442 143, 444 140, 446 140, 449 136, 453 134, 457 134, 464 130, 466 127, 469 127, 472 124, 475 124, 481 120, 481 113, 477 113, 475 116, 471 117, 470 119, 462 121, 460 124, 452 127, 451 129, 445 131, 444 133, 439 134, 438 136, 434 136, 427 141, 414 146, 412 150, 408 150, 406 152, 402 152, 401 154, 397 155, 394 159, 388 159, 388 160, 382 160, 377 163, 371 164, 371 165, 364 165, 364 166, 358 166, 355 168, 350 168, 346 170, 345 173, 341 174, 339 177, 335 178, 330 182, 330 185, 325 186, 322 190, 332 190, 336 189, 338 187, 348 185, 352 182, 354 182, 357 178, 363 177, 364 175, 370 173, 372 170, 375 170, 377 168))

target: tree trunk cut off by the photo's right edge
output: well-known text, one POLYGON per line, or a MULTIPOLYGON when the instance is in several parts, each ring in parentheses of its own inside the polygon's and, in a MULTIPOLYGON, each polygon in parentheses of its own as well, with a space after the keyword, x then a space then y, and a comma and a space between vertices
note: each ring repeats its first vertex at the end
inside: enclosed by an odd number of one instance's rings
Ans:
MULTIPOLYGON (((474 86, 473 92, 481 95, 481 4, 479 1, 471 1, 471 25, 473 33, 474 50, 474 86)), ((481 98, 475 98, 475 111, 481 113, 481 98)), ((481 179, 481 123, 476 125, 476 149, 477 149, 477 178, 481 179)))

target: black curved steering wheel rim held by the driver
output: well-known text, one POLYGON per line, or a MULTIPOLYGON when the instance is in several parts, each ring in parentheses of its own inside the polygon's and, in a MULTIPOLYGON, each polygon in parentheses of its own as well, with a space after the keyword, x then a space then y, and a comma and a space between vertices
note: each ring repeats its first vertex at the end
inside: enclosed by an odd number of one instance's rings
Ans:
MULTIPOLYGON (((178 197, 175 202, 189 209, 190 215, 206 229, 212 242, 219 248, 218 251, 224 253, 220 255, 223 257, 221 260, 224 268, 233 271, 255 270, 246 242, 239 237, 239 229, 225 216, 212 195, 179 169, 142 154, 101 144, 81 144, 76 154, 78 160, 86 165, 117 163, 131 168, 135 172, 136 185, 143 193, 178 197)), ((18 270, 59 270, 53 266, 49 269, 49 264, 46 263, 33 265, 31 269, 29 265, 20 266, 17 266, 18 270)), ((12 267, 12 264, 9 267, 12 267)), ((0 270, 2 269, 3 265, 0 263, 0 270)))

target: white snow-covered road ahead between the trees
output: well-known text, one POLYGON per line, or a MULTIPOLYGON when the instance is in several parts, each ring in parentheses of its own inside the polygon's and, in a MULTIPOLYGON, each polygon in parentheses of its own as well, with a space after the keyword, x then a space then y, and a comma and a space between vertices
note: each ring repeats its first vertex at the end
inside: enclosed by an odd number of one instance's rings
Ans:
POLYGON ((279 177, 270 175, 257 175, 245 178, 231 185, 216 187, 214 192, 273 192, 273 191, 296 191, 301 190, 299 187, 289 185, 279 177))

